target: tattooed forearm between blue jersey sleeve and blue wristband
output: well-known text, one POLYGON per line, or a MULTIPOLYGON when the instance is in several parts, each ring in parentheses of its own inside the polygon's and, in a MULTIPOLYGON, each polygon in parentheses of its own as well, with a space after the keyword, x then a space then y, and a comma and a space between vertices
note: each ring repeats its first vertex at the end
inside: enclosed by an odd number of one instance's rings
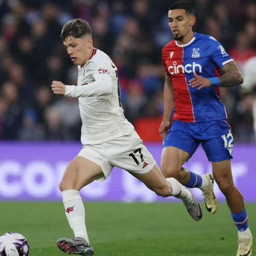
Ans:
POLYGON ((235 61, 230 61, 229 63, 225 64, 221 70, 224 73, 219 78, 221 82, 221 87, 231 87, 242 84, 244 82, 241 71, 236 66, 235 61))

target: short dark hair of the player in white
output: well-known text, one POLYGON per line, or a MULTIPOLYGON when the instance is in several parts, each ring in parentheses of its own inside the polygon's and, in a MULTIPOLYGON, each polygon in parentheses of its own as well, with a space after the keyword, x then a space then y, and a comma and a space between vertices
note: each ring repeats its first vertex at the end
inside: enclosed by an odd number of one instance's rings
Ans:
POLYGON ((68 21, 61 30, 61 40, 65 41, 69 36, 73 38, 81 38, 84 35, 92 35, 90 24, 82 19, 74 19, 68 21))

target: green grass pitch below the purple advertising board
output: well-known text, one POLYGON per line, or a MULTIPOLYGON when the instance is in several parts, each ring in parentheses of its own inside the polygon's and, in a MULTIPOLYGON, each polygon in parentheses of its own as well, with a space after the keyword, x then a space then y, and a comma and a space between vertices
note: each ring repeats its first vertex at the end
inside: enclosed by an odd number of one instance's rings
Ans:
MULTIPOLYGON (((85 203, 95 256, 235 256, 237 230, 225 204, 193 221, 183 204, 85 203)), ((256 236, 256 204, 247 204, 256 236)), ((30 256, 64 256, 60 237, 73 237, 61 203, 1 203, 1 233, 18 232, 30 256)))

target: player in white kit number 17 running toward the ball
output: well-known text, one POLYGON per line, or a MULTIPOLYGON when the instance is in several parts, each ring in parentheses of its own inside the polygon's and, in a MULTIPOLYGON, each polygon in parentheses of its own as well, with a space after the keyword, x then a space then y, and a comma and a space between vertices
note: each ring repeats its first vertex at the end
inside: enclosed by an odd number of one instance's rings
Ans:
POLYGON ((67 166, 59 186, 74 238, 58 239, 57 246, 65 253, 93 255, 79 190, 94 180, 105 180, 114 166, 130 172, 157 195, 180 198, 189 215, 201 220, 201 207, 192 192, 174 178, 164 178, 133 125, 125 119, 116 65, 93 47, 90 24, 70 20, 61 31, 61 39, 78 66, 78 82, 74 86, 52 81, 52 91, 79 98, 83 146, 67 166))

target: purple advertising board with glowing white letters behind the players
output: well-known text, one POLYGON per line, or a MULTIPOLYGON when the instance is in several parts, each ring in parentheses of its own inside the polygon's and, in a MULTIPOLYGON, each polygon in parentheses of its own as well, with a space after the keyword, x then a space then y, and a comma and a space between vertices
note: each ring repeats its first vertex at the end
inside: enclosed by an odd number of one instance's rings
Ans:
MULTIPOLYGON (((65 167, 79 152, 79 143, 1 143, 1 201, 61 201, 58 184, 65 167)), ((161 145, 148 145, 160 164, 161 145)), ((256 145, 235 145, 233 178, 246 202, 256 202, 256 145)), ((204 151, 199 148, 185 165, 198 174, 211 172, 204 151)), ((86 172, 86 169, 84 169, 86 172)), ((217 186, 216 195, 224 201, 217 186)), ((193 189, 202 200, 201 191, 193 189)), ((84 201, 169 202, 175 198, 160 198, 124 170, 114 168, 104 182, 93 182, 81 190, 84 201)))

